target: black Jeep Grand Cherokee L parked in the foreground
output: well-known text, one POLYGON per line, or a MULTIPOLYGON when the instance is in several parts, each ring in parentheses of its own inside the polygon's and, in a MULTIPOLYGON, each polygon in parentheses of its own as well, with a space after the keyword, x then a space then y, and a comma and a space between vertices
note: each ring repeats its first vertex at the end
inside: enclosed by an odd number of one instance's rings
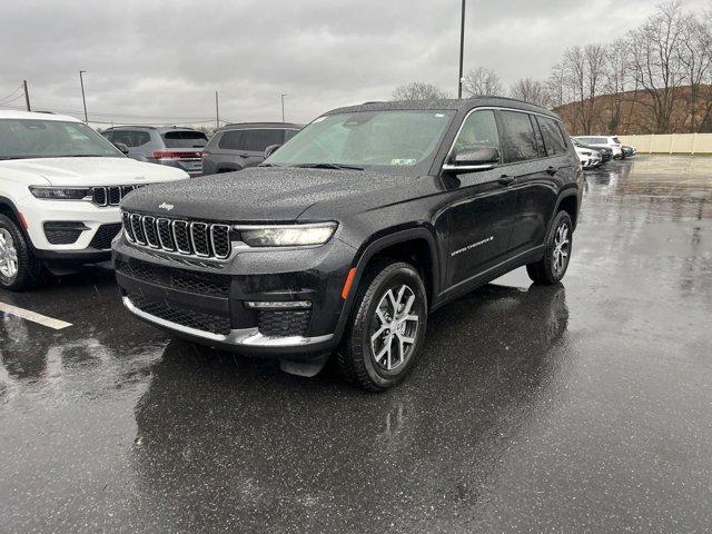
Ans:
POLYGON ((126 307, 313 375, 336 353, 398 383, 428 313, 526 266, 562 279, 583 172, 561 120, 498 98, 370 102, 317 118, 260 167, 138 190, 113 261, 126 307))

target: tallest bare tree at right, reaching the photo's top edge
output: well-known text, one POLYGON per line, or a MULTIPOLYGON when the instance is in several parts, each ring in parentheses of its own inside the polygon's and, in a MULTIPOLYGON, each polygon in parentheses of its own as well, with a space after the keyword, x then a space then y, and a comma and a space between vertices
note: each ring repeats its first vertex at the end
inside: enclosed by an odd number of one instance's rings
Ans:
POLYGON ((656 134, 672 131, 678 87, 685 70, 680 61, 684 39, 684 17, 678 0, 661 3, 657 12, 630 34, 635 81, 647 96, 641 103, 651 110, 656 134))

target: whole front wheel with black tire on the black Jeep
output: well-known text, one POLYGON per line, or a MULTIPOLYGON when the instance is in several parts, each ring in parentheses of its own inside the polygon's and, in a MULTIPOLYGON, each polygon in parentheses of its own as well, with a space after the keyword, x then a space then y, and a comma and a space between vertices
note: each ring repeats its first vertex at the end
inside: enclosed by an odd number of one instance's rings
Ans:
POLYGON ((378 261, 369 268, 359 285, 349 325, 336 357, 339 372, 348 380, 372 392, 382 392, 395 386, 413 367, 423 345, 426 326, 427 294, 418 271, 403 261, 378 261), (396 294, 403 287, 406 287, 403 290, 403 299, 409 300, 412 295, 415 300, 409 313, 406 313, 404 306, 399 308, 402 314, 394 314, 393 318, 400 323, 398 323, 398 332, 389 334, 389 327, 380 324, 378 317, 389 317, 389 310, 385 308, 390 306, 393 309, 393 306, 389 304, 390 300, 387 300, 387 294, 392 290, 393 295, 397 296, 396 294), (382 306, 384 299, 386 299, 385 307, 382 306), (402 320, 406 316, 414 315, 418 317, 417 322, 402 320), (383 330, 384 328, 386 329, 383 330), (376 330, 383 330, 383 334, 374 343, 380 344, 379 349, 386 349, 386 345, 389 347, 387 356, 384 356, 380 362, 377 360, 374 345, 372 345, 372 336, 376 330), (405 349, 399 348, 405 346, 400 343, 400 336, 412 338, 414 342, 409 343, 405 349), (398 355, 400 358, 396 362, 398 355))

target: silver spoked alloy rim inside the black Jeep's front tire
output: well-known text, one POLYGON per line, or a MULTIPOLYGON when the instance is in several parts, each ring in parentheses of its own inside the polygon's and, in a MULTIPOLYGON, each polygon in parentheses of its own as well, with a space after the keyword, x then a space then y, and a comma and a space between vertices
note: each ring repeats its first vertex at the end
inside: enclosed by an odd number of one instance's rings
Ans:
POLYGON ((403 366, 417 338, 421 318, 413 313, 416 294, 403 284, 389 288, 382 297, 372 320, 370 349, 376 364, 385 370, 403 366))

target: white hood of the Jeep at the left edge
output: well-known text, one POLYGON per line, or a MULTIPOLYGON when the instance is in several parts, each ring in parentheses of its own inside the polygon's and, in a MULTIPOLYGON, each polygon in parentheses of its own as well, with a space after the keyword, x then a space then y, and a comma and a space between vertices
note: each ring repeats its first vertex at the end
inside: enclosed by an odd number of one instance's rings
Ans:
POLYGON ((112 186, 154 184, 188 178, 172 167, 130 158, 36 158, 0 161, 0 172, 12 172, 23 181, 52 186, 112 186))

